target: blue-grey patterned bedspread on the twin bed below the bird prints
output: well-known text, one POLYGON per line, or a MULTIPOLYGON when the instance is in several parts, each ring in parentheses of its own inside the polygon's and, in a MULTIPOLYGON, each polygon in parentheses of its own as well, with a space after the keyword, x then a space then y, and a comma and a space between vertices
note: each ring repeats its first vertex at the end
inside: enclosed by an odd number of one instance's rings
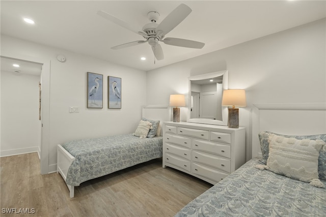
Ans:
POLYGON ((132 134, 75 140, 62 145, 76 159, 66 183, 80 183, 162 156, 162 137, 140 139, 132 134))

